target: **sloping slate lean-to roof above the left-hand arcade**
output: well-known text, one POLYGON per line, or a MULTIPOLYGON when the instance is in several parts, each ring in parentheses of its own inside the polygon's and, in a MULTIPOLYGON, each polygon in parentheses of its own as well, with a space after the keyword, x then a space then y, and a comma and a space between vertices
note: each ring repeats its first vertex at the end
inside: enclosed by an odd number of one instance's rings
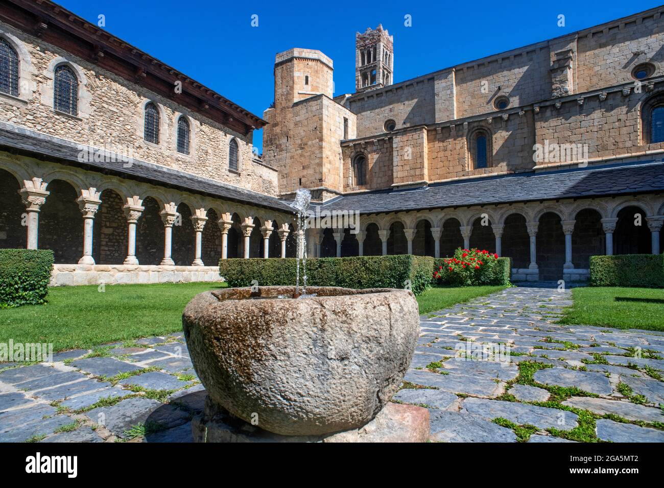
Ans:
MULTIPOLYGON (((54 162, 74 164, 83 169, 104 171, 119 177, 139 179, 155 185, 177 187, 193 193, 204 193, 212 197, 264 206, 275 210, 292 212, 293 208, 287 201, 276 197, 269 197, 255 191, 245 190, 233 185, 226 185, 218 181, 197 177, 190 173, 183 173, 175 169, 145 163, 137 159, 130 159, 131 165, 122 162, 118 155, 117 161, 78 161, 78 154, 84 145, 80 145, 58 137, 44 135, 22 127, 0 122, 0 148, 12 152, 21 152, 27 155, 44 155, 54 162)), ((92 148, 94 150, 94 148, 92 148)), ((108 153, 112 154, 112 153, 108 153)), ((112 157, 104 158, 112 160, 112 157)))

